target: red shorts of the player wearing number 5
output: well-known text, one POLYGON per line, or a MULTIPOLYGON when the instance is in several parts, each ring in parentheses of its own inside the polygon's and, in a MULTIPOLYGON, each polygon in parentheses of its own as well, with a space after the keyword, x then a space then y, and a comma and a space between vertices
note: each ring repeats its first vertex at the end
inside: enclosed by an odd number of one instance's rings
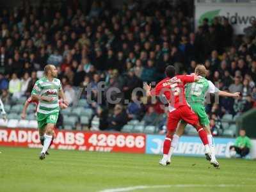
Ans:
POLYGON ((189 106, 180 106, 168 115, 167 130, 175 131, 180 120, 184 120, 190 125, 198 124, 198 116, 189 106))

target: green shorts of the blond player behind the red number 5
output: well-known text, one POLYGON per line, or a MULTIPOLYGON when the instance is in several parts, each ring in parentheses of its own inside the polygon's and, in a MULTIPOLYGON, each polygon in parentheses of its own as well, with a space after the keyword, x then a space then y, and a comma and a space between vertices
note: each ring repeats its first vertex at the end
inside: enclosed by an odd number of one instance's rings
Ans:
MULTIPOLYGON (((190 106, 193 109, 193 111, 196 113, 196 115, 198 116, 199 122, 201 125, 206 127, 207 125, 210 124, 208 115, 205 112, 205 107, 203 104, 194 103, 194 104, 190 104, 190 106)), ((184 120, 180 120, 180 123, 186 124, 186 122, 184 120)))

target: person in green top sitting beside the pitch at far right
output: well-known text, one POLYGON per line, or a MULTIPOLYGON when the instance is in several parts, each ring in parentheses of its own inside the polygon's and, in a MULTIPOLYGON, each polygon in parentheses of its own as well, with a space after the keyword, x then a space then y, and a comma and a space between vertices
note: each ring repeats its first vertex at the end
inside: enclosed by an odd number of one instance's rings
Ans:
POLYGON ((239 131, 239 137, 236 138, 235 145, 230 146, 230 156, 234 157, 238 154, 241 158, 247 156, 250 153, 252 142, 244 129, 239 131))

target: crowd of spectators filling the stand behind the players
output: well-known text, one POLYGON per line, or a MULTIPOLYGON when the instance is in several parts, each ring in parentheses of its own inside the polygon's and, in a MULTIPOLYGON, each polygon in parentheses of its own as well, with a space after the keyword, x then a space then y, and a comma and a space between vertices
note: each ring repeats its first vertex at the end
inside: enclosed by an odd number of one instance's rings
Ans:
MULTIPOLYGON (((234 35, 227 19, 218 17, 193 29, 193 17, 184 6, 168 1, 150 3, 140 9, 140 1, 129 1, 122 9, 108 1, 93 1, 89 12, 77 6, 32 7, 28 1, 0 13, 0 90, 4 104, 13 98, 29 97, 40 71, 47 63, 58 68, 59 78, 70 106, 79 87, 91 86, 89 108, 93 130, 120 131, 128 120, 164 127, 166 116, 158 100, 140 104, 141 95, 131 95, 143 81, 159 81, 164 68, 174 65, 180 74, 193 73, 196 63, 209 70, 207 79, 220 90, 241 92, 240 99, 220 98, 207 104, 211 128, 218 135, 225 113, 239 115, 256 107, 256 22, 245 35, 234 35), (119 88, 120 104, 97 103, 97 83, 105 91, 119 88), (125 99, 131 102, 124 104, 125 99)), ((78 6, 79 7, 79 6, 78 6)), ((87 99, 86 92, 81 94, 87 99)))

